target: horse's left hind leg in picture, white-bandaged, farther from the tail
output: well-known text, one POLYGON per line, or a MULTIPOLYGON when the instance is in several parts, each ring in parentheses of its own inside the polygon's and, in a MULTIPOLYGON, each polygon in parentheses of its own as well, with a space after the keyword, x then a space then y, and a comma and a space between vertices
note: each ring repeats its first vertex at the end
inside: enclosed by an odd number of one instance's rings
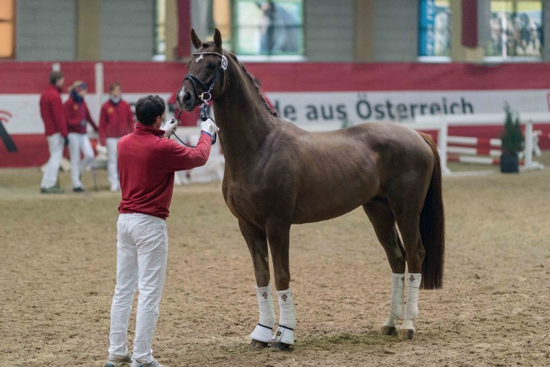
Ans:
POLYGON ((382 324, 380 333, 393 335, 396 332, 397 320, 403 317, 403 297, 405 291, 405 249, 397 234, 395 218, 388 200, 374 198, 363 205, 363 209, 371 220, 376 236, 386 251, 390 262, 391 277, 391 306, 388 318, 382 324))

